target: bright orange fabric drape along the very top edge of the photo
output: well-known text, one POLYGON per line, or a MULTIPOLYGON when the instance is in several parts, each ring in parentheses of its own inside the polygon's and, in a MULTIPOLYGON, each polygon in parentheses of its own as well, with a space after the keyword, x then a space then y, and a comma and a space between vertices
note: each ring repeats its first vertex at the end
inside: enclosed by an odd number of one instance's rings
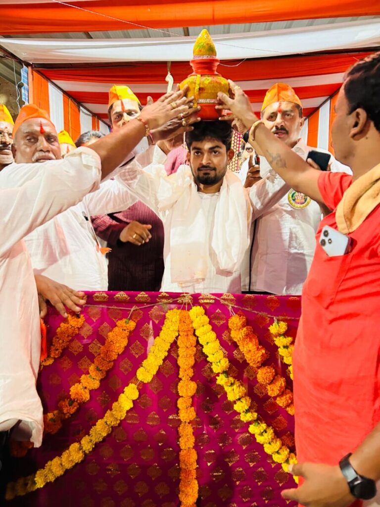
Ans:
MULTIPOLYGON (((231 23, 260 23, 293 19, 368 16, 380 14, 380 2, 367 0, 88 0, 75 9, 56 3, 25 3, 0 6, 0 32, 52 33, 74 31, 133 30, 151 28, 207 26, 231 23), (90 10, 92 12, 85 11, 90 10), (105 15, 105 16, 103 16, 105 15), (117 19, 112 19, 112 17, 117 19), (123 20, 123 21, 118 21, 123 20), (125 21, 130 21, 129 24, 125 21)), ((181 34, 181 33, 180 33, 181 34)))

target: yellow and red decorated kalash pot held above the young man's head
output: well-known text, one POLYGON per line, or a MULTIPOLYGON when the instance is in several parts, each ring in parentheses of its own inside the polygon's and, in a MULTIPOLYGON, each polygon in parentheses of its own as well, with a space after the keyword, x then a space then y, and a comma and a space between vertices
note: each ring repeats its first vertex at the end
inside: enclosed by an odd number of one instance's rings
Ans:
POLYGON ((217 120, 222 111, 215 109, 218 103, 218 92, 229 94, 229 83, 216 72, 219 60, 216 58, 216 49, 209 32, 204 29, 198 35, 193 50, 193 59, 190 60, 193 74, 190 74, 179 88, 188 85, 188 97, 194 96, 194 105, 200 105, 198 116, 202 120, 217 120))

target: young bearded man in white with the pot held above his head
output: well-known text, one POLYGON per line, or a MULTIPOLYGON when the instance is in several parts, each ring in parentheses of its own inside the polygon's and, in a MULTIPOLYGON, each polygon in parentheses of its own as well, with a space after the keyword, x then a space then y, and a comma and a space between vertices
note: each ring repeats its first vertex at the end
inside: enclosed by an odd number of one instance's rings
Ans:
POLYGON ((241 262, 252 215, 268 210, 286 192, 272 175, 243 188, 227 165, 234 156, 232 128, 203 121, 186 133, 189 165, 166 175, 163 166, 143 171, 136 162, 117 176, 164 224, 165 270, 161 291, 240 293, 241 262), (134 170, 133 170, 134 169, 134 170))

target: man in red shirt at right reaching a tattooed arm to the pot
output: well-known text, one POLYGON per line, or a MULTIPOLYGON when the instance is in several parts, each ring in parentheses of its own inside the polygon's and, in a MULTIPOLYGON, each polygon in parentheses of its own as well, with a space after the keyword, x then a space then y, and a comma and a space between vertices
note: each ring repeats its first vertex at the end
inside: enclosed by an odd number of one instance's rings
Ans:
MULTIPOLYGON (((271 133, 231 83, 219 94, 250 142, 297 192, 333 212, 321 222, 293 352, 295 444, 301 476, 287 500, 376 507, 380 480, 380 52, 346 73, 331 128, 353 176, 318 171, 271 133), (378 487, 378 483, 377 483, 378 487)), ((310 161, 312 163, 312 161, 310 161)), ((315 164, 314 164, 315 165, 315 164)))

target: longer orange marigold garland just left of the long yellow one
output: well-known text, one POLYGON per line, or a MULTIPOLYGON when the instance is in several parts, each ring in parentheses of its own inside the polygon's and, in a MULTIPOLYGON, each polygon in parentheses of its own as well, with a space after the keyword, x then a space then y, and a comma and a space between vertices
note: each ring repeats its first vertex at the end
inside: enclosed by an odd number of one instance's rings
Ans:
POLYGON ((69 418, 81 405, 90 399, 90 391, 100 386, 107 371, 113 367, 114 361, 124 352, 128 339, 136 327, 136 322, 121 319, 115 328, 107 334, 104 345, 89 367, 89 373, 82 375, 79 382, 70 388, 70 397, 58 403, 58 410, 44 414, 44 433, 56 433, 62 427, 62 420, 69 418))

